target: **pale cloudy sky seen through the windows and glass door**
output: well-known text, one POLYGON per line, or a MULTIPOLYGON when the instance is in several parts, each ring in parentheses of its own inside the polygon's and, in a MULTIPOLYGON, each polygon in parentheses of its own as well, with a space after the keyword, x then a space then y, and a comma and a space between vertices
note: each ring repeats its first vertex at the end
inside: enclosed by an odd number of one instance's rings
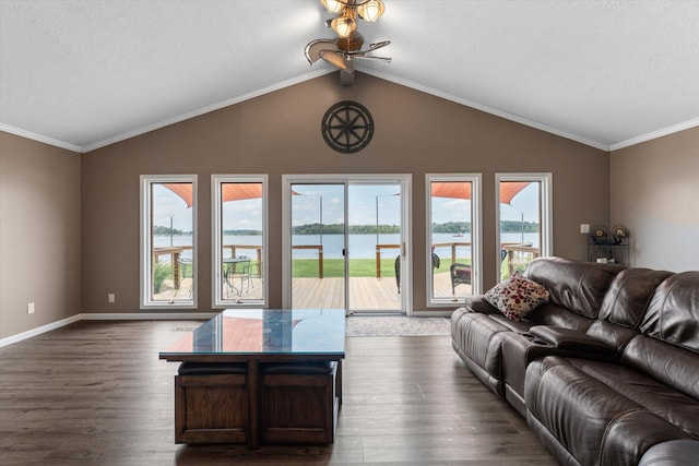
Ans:
MULTIPOLYGON (((343 223, 344 188, 342 184, 295 184, 293 225, 320 223, 322 202, 323 225, 343 223), (321 201, 322 200, 322 201, 321 201)), ((350 225, 399 225, 400 192, 398 184, 350 184, 350 225)), ((419 194, 414 194, 419 195, 419 194)), ((535 222, 537 219, 537 187, 530 184, 522 190, 510 205, 501 204, 500 217, 505 220, 535 222)), ((470 200, 435 198, 433 222, 464 222, 469 217, 470 200)), ((156 186, 154 189, 155 225, 191 230, 192 210, 171 191, 156 186)), ((224 229, 262 229, 262 202, 260 199, 230 201, 224 203, 224 229)))

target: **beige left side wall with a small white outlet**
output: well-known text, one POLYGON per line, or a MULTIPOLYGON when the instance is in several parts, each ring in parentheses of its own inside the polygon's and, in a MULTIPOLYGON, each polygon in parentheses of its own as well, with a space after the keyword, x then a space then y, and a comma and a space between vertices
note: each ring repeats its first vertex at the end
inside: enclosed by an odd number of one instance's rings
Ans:
POLYGON ((80 155, 0 132, 0 338, 79 312, 80 155))

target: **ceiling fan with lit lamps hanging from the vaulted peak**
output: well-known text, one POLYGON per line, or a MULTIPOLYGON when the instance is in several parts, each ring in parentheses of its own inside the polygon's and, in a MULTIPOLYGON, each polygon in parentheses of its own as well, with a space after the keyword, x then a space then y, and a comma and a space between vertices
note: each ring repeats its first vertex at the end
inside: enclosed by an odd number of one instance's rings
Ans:
POLYGON ((357 19, 374 22, 383 14, 384 5, 381 0, 320 0, 331 13, 339 14, 325 24, 331 27, 337 37, 334 39, 316 39, 306 45, 305 55, 310 64, 318 60, 340 69, 340 81, 343 85, 354 82, 354 61, 356 59, 372 59, 390 62, 388 57, 374 57, 370 53, 391 44, 382 40, 369 45, 362 50, 364 36, 357 31, 357 19))

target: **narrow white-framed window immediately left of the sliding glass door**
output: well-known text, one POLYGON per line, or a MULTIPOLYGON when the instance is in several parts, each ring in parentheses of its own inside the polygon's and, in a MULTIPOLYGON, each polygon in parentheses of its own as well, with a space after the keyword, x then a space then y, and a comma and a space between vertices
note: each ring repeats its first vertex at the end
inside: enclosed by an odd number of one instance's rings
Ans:
POLYGON ((266 304, 266 175, 213 175, 214 306, 266 304))

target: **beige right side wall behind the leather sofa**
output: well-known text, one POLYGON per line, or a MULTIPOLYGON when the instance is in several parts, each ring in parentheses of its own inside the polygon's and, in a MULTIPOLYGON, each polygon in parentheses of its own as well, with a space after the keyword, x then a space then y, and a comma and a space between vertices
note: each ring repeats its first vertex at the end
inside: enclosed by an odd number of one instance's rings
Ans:
POLYGON ((699 128, 612 154, 612 223, 631 232, 632 264, 699 270, 699 128))

